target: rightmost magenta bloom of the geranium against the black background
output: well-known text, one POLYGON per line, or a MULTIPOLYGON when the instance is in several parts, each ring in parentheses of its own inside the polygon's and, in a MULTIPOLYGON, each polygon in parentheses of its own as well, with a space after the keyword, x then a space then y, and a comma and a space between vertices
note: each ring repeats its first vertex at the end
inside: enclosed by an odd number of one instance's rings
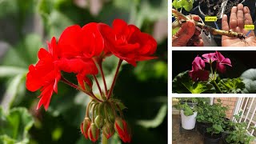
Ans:
POLYGON ((231 65, 231 61, 230 58, 225 58, 220 52, 216 51, 216 69, 220 72, 220 73, 224 73, 226 71, 226 67, 227 66, 232 66, 231 65))

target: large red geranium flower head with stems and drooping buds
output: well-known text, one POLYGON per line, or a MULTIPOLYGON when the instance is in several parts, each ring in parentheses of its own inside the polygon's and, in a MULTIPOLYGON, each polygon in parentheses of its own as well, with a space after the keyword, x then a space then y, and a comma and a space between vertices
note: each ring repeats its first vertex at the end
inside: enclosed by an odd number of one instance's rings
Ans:
POLYGON ((86 107, 86 116, 81 124, 85 138, 92 142, 98 140, 100 130, 102 138, 110 138, 114 131, 123 142, 130 142, 129 126, 122 114, 125 106, 113 98, 113 90, 122 61, 136 66, 136 62, 156 58, 152 56, 157 42, 149 34, 142 33, 137 26, 127 25, 121 19, 115 19, 113 26, 104 23, 90 22, 85 26, 69 26, 58 39, 52 38, 48 50, 38 51, 39 61, 29 66, 26 75, 26 88, 30 91, 40 90, 39 109, 45 110, 50 105, 50 98, 58 93, 58 82, 64 82, 91 97, 86 107), (113 82, 108 89, 102 70, 102 62, 111 55, 119 58, 113 82), (63 72, 74 73, 78 84, 63 77, 63 72), (104 89, 102 90, 96 74, 102 75, 104 89), (93 92, 94 78, 99 95, 93 92), (91 114, 90 114, 91 112, 91 114))

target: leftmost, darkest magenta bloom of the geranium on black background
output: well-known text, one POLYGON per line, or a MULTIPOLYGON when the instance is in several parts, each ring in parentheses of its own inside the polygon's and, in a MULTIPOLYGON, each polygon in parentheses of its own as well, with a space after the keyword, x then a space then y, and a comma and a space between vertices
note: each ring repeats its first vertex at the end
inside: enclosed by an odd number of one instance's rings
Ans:
POLYGON ((205 62, 200 57, 194 58, 194 61, 192 62, 192 70, 190 70, 190 78, 194 82, 196 81, 207 81, 209 78, 209 71, 204 70, 205 68, 205 62))

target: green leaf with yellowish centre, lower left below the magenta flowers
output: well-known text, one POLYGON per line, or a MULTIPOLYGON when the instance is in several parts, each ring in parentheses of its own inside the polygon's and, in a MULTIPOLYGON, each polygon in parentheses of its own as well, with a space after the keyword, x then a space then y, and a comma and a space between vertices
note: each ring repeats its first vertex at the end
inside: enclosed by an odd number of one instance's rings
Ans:
POLYGON ((178 74, 173 80, 173 93, 181 94, 201 94, 216 93, 210 82, 193 82, 189 76, 189 71, 178 74))

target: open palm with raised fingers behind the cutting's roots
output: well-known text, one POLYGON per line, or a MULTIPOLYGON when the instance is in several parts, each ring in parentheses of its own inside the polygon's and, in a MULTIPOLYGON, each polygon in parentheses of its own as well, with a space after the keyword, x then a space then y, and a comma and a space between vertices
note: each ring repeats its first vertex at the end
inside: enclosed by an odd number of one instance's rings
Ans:
MULTIPOLYGON (((244 26, 252 24, 253 20, 250 15, 250 10, 247 6, 244 7, 242 4, 232 7, 230 13, 230 25, 227 22, 226 14, 224 14, 222 17, 222 30, 231 30, 242 34, 247 34, 249 30, 245 30, 244 26)), ((222 35, 222 46, 256 46, 254 30, 252 30, 250 34, 246 36, 245 41, 242 41, 239 38, 231 38, 222 35)))

